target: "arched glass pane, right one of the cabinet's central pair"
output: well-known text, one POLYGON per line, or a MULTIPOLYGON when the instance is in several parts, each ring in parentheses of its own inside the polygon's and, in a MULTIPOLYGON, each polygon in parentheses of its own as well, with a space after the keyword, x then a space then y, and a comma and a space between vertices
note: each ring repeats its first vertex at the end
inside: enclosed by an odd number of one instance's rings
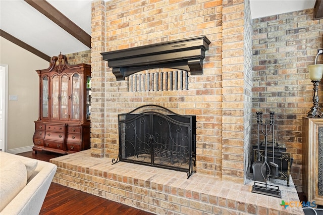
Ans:
POLYGON ((67 75, 61 77, 61 119, 69 119, 69 78, 67 75))

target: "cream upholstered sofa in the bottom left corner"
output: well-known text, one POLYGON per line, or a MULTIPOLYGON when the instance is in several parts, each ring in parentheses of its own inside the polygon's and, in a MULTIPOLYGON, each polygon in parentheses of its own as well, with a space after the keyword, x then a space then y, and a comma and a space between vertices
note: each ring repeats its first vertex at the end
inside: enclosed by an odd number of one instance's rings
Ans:
POLYGON ((39 214, 56 169, 48 162, 0 151, 0 214, 39 214))

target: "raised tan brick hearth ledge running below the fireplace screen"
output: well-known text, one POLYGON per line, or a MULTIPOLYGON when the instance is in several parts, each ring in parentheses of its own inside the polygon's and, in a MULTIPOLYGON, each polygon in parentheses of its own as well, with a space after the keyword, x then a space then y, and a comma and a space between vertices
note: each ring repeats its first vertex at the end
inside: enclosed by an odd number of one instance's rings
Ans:
POLYGON ((50 160, 58 166, 53 182, 156 214, 303 214, 293 180, 280 186, 282 198, 251 192, 246 185, 186 173, 95 158, 90 150, 50 160))

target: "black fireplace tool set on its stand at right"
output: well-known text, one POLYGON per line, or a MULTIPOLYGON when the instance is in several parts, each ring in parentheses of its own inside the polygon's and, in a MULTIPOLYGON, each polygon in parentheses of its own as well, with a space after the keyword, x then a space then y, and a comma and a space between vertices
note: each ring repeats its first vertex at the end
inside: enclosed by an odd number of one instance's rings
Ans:
POLYGON ((277 177, 279 174, 278 165, 275 163, 275 112, 270 112, 270 123, 262 122, 262 112, 257 112, 257 160, 252 164, 254 185, 252 186, 253 193, 270 195, 274 197, 282 197, 279 186, 267 184, 270 176, 277 177), (264 160, 260 160, 260 132, 264 136, 264 160), (267 160, 267 140, 268 136, 273 138, 273 158, 272 161, 267 160))

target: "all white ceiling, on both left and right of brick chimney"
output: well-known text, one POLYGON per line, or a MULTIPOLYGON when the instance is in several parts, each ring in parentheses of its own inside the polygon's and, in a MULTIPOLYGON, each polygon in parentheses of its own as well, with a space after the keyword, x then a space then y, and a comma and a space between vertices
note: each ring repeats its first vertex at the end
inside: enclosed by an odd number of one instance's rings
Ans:
MULTIPOLYGON (((91 35, 90 0, 47 2, 91 35)), ((314 4, 315 0, 250 0, 253 19, 313 8, 314 4)), ((0 0, 0 29, 50 57, 89 49, 23 0, 0 0)))

